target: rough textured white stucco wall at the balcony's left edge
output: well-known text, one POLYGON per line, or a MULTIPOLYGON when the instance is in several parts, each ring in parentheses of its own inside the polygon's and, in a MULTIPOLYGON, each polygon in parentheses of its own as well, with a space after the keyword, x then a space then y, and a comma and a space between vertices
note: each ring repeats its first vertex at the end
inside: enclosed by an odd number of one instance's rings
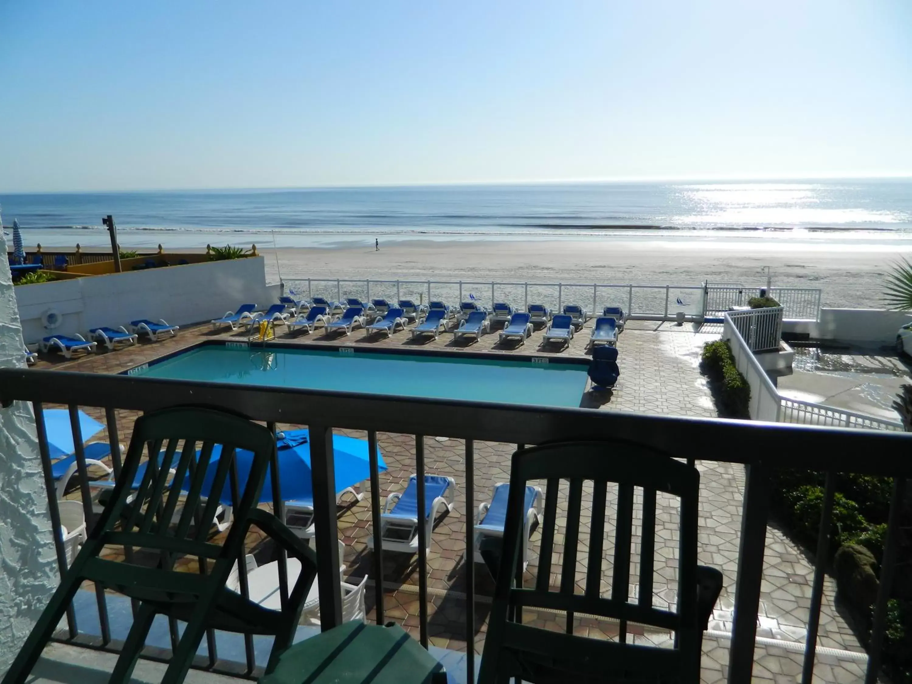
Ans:
MULTIPOLYGON (((0 231, 0 254, 6 253, 0 231)), ((16 295, 0 259, 0 368, 25 366, 16 295)), ((17 401, 0 409, 0 674, 9 667, 57 586, 47 491, 35 418, 17 401)))

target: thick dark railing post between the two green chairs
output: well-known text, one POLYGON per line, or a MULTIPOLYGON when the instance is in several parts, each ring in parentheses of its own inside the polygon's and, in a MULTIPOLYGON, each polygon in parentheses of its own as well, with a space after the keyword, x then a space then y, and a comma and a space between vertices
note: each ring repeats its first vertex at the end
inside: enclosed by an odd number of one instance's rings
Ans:
MULTIPOLYGON (((320 629, 342 624, 342 586, 339 579, 336 521, 336 465, 333 429, 310 425, 310 470, 314 487, 316 583, 320 592, 320 629)), ((377 578, 382 587, 383 578, 377 578)))

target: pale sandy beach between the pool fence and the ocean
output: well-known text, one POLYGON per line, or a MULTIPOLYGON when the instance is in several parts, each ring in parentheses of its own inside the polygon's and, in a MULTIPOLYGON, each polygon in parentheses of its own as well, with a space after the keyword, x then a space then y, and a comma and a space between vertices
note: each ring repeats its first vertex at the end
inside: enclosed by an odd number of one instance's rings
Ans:
POLYGON ((827 244, 622 241, 413 241, 337 248, 261 249, 268 277, 499 280, 547 283, 700 285, 710 282, 819 287, 824 306, 880 308, 883 276, 899 249, 827 244))

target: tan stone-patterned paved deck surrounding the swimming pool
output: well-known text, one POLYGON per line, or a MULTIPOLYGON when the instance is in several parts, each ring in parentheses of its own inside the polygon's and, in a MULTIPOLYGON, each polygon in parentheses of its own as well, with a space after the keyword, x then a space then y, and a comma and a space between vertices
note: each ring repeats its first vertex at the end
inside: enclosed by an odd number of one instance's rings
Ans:
MULTIPOLYGON (((441 335, 436 341, 425 343, 409 342, 408 333, 396 333, 389 338, 365 338, 361 331, 352 336, 334 337, 326 340, 321 332, 316 335, 291 336, 279 328, 279 343, 285 340, 304 341, 323 345, 352 344, 356 347, 399 347, 425 348, 455 351, 471 354, 476 351, 503 353, 506 355, 550 355, 559 353, 564 356, 586 356, 586 341, 589 337, 591 322, 578 334, 563 351, 543 348, 543 332, 538 330, 526 341, 523 347, 513 349, 497 344, 497 336, 482 336, 477 343, 468 346, 457 345, 451 335, 441 335)), ((700 375, 699 355, 703 343, 718 339, 721 326, 676 326, 673 323, 654 323, 647 321, 629 321, 620 334, 618 348, 618 365, 621 375, 617 386, 612 391, 595 394, 586 393, 584 406, 598 409, 613 409, 652 413, 661 415, 716 417, 718 414, 707 388, 705 378, 700 375)), ((212 327, 190 326, 182 329, 177 337, 163 339, 161 342, 140 343, 135 347, 119 349, 114 352, 101 352, 65 361, 56 357, 42 355, 35 368, 57 368, 98 373, 118 373, 146 363, 154 358, 190 347, 206 339, 246 340, 246 332, 232 333, 228 328, 212 331, 212 327)), ((87 412, 101 419, 101 411, 87 409, 87 412)), ((130 439, 133 420, 137 414, 133 411, 117 411, 121 440, 130 439)), ((295 426, 280 426, 283 428, 295 426)), ((364 438, 364 433, 345 430, 345 434, 364 438)), ((104 439, 105 433, 99 433, 94 439, 104 439)), ((414 442, 409 435, 378 435, 378 442, 389 470, 381 473, 381 495, 390 492, 401 492, 409 476, 414 472, 414 442)), ((495 482, 509 480, 510 455, 513 445, 489 442, 475 444, 475 500, 466 502, 464 498, 463 458, 464 445, 461 440, 437 440, 433 436, 425 438, 425 459, 428 472, 448 474, 456 480, 456 503, 453 513, 443 518, 432 536, 429 559, 429 633, 433 645, 453 650, 465 649, 465 544, 467 523, 466 515, 474 515, 477 507, 490 496, 495 482)), ((719 445, 707 444, 708 455, 719 445)), ((738 545, 741 529, 741 502, 744 487, 744 470, 741 466, 718 461, 698 461, 700 470, 700 563, 718 567, 725 576, 725 586, 720 601, 710 621, 710 633, 704 638, 702 660, 702 680, 704 682, 724 681, 728 665, 730 640, 725 635, 731 632, 734 584, 737 569, 738 545)), ((565 505, 565 493, 561 492, 559 505, 565 505)), ((585 504, 584 504, 585 505, 585 504)), ((584 519, 586 512, 584 512, 584 519)), ((672 528, 677 526, 677 513, 670 502, 660 505, 658 520, 667 529, 665 534, 658 530, 658 537, 665 540, 665 545, 657 551, 657 572, 664 585, 659 582, 655 587, 656 601, 675 600, 674 565, 676 563, 677 542, 672 539, 672 528), (666 566, 661 566, 665 558, 666 566)), ((587 519, 586 519, 587 520, 587 519)), ((339 532, 347 544, 345 562, 348 573, 353 577, 372 575, 371 554, 366 548, 366 539, 370 533, 369 497, 364 501, 353 503, 347 501, 347 507, 340 508, 338 514, 339 532)), ((555 538, 555 551, 559 553, 563 542, 563 525, 558 527, 555 538)), ((583 534, 587 534, 584 530, 583 534)), ((540 543, 540 534, 533 534, 530 548, 532 559, 528 576, 536 570, 535 549, 540 543)), ((262 540, 252 535, 248 540, 254 553, 262 540)), ((796 652, 795 642, 803 642, 807 609, 810 606, 813 565, 811 559, 796 544, 793 544, 780 531, 769 527, 767 530, 767 554, 764 560, 762 582, 762 606, 758 616, 758 637, 776 639, 774 642, 763 641, 755 649, 754 677, 756 681, 795 681, 800 672, 803 654, 796 652)), ((606 551, 606 553, 608 553, 606 551)), ((634 562, 637 562, 635 557, 634 562)), ((418 576, 413 557, 402 554, 384 554, 385 577, 384 596, 386 618, 399 621, 410 632, 418 633, 418 576)), ((585 564, 581 565, 585 567, 585 564)), ((192 569, 188 566, 188 569, 192 569)), ((530 575, 531 574, 531 575, 530 575)), ((610 575, 607 575, 608 577, 610 575)), ((487 570, 476 565, 478 596, 476 600, 476 641, 475 646, 481 652, 485 634, 487 609, 490 606, 492 582, 487 570)), ((374 577, 368 580, 368 610, 373 617, 373 606, 376 603, 376 586, 374 577)), ((554 578, 553 578, 554 581, 554 578)), ((824 606, 821 614, 820 646, 835 648, 840 651, 863 652, 863 648, 846 625, 845 619, 834 606, 834 581, 827 579, 824 588, 824 606)), ((563 631, 563 617, 545 611, 526 611, 526 620, 542 627, 563 631)), ((606 620, 580 617, 574 627, 578 634, 590 637, 612 638, 617 635, 617 624, 606 620)), ((634 641, 642 643, 668 644, 668 633, 638 629, 631 626, 634 641), (637 633, 641 632, 641 633, 637 633)), ((865 664, 851 657, 824 655, 818 653, 814 681, 858 681, 863 679, 865 664)))

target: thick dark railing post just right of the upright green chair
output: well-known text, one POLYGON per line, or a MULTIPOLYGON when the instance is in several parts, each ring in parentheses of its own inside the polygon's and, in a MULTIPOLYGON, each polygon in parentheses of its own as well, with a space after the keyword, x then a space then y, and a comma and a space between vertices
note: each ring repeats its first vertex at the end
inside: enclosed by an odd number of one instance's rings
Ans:
POLYGON ((735 609, 731 627, 729 684, 750 684, 751 681, 769 509, 769 475, 766 469, 762 463, 751 463, 745 472, 735 609))

